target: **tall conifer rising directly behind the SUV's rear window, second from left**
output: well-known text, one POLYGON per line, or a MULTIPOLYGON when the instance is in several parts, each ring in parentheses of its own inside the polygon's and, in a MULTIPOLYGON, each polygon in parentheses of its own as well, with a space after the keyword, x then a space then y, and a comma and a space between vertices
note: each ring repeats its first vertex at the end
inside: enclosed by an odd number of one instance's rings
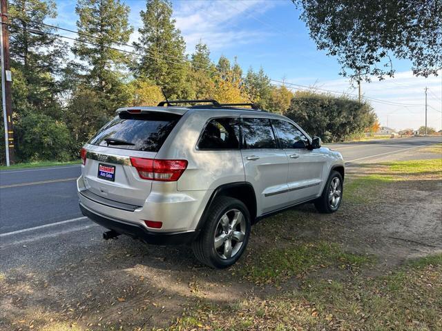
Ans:
POLYGON ((79 41, 75 41, 73 53, 88 64, 85 83, 97 92, 102 111, 111 114, 128 98, 122 70, 131 57, 113 48, 127 43, 131 36, 129 8, 120 0, 79 0, 75 12, 79 41))

